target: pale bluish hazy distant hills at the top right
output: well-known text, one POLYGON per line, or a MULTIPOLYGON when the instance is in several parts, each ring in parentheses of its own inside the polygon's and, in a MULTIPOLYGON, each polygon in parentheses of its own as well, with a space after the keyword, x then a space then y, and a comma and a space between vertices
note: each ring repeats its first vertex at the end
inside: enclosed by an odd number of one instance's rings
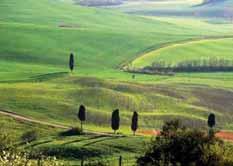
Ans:
POLYGON ((137 15, 207 18, 218 22, 233 20, 233 0, 127 0, 118 8, 137 15))

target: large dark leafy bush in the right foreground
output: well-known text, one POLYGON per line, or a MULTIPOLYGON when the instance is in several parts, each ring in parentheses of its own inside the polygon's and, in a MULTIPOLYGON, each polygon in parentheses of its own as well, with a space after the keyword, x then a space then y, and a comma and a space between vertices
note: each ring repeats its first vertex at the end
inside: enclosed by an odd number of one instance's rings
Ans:
POLYGON ((137 165, 232 166, 233 154, 214 134, 186 128, 174 120, 164 124, 161 134, 137 159, 137 165))

